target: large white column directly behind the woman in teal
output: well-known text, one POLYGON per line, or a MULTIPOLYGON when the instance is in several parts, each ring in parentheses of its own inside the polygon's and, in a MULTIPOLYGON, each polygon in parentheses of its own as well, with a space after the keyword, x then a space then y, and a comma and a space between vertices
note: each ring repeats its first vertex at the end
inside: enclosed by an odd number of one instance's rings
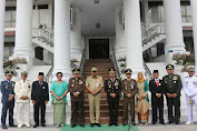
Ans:
POLYGON ((71 77, 70 70, 70 0, 55 1, 53 80, 62 72, 63 80, 71 77))

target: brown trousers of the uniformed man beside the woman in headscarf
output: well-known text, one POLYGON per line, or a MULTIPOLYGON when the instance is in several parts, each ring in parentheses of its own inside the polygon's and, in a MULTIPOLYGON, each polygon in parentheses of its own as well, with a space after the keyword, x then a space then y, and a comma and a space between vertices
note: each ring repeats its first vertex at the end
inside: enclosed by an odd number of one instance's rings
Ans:
POLYGON ((124 124, 128 123, 128 104, 130 104, 131 123, 135 123, 135 100, 132 102, 124 100, 124 124))

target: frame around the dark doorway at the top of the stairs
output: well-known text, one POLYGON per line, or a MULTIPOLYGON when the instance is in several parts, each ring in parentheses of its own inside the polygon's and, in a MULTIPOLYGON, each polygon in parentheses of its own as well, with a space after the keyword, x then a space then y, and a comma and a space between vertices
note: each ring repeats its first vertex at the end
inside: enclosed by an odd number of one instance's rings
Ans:
POLYGON ((85 49, 86 49, 86 59, 87 60, 89 60, 89 40, 90 39, 109 39, 109 59, 110 59, 111 50, 114 47, 114 37, 86 37, 85 49))

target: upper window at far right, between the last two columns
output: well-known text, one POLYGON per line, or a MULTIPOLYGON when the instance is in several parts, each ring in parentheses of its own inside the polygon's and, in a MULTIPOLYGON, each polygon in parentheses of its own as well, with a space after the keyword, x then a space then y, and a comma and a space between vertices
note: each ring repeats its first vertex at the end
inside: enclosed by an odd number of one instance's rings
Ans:
POLYGON ((191 22, 191 9, 189 1, 181 2, 181 21, 191 22))

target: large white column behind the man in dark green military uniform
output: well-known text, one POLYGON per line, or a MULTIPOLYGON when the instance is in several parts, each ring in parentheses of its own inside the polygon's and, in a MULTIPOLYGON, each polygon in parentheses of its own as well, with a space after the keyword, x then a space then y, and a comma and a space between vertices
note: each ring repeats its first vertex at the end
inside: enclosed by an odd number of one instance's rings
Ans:
POLYGON ((164 0, 166 23, 166 61, 173 63, 174 53, 185 53, 180 0, 164 0))

